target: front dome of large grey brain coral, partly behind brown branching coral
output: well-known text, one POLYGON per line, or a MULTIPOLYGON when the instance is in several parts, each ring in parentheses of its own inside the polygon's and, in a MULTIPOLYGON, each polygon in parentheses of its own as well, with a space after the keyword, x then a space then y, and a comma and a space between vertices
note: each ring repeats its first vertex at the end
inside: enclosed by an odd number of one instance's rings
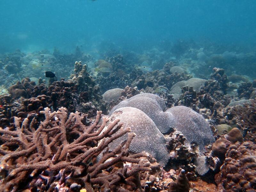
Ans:
MULTIPOLYGON (((129 147, 131 152, 140 153, 145 151, 156 158, 161 166, 167 164, 170 156, 165 147, 166 140, 164 135, 145 113, 132 107, 118 108, 112 113, 110 119, 120 119, 120 123, 123 123, 124 128, 130 127, 131 132, 136 133, 129 147)), ((108 145, 110 151, 126 140, 127 135, 125 134, 111 142, 108 145)))

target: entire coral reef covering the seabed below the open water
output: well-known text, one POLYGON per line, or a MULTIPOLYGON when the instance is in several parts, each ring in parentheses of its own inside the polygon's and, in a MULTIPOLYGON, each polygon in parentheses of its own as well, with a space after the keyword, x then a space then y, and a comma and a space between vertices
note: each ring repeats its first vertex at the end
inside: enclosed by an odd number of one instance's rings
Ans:
POLYGON ((255 52, 88 49, 0 53, 0 191, 256 190, 255 52))

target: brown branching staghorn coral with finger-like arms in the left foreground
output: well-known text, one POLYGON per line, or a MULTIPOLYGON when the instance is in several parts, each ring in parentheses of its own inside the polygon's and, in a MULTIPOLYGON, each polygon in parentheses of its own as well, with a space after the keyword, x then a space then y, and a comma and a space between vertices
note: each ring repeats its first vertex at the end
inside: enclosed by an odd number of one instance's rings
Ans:
POLYGON ((151 171, 148 154, 131 155, 128 152, 134 133, 129 133, 128 139, 118 148, 107 151, 98 163, 93 164, 93 159, 110 142, 130 132, 128 128, 122 128, 118 119, 108 122, 108 118, 103 118, 99 125, 101 112, 98 112, 94 123, 85 126, 85 116, 78 112, 68 116, 63 107, 57 112, 45 108, 40 113, 45 116, 40 124, 34 115, 23 122, 15 117, 14 131, 0 128, 0 142, 3 143, 0 148, 0 191, 26 188, 54 191, 63 188, 69 178, 82 181, 80 184, 87 191, 93 191, 93 185, 106 190, 129 185, 134 190, 140 188, 140 184, 135 184, 139 178, 134 182, 126 179, 135 177, 140 171, 151 171), (105 126, 107 129, 102 131, 105 126), (117 130, 120 132, 113 135, 117 130), (132 163, 130 171, 126 166, 116 172, 106 171, 114 164, 124 162, 132 163))

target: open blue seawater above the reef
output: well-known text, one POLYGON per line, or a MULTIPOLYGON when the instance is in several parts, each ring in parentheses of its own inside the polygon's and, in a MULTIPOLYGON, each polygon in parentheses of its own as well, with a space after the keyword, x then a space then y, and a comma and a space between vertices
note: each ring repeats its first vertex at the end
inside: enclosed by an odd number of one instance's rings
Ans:
POLYGON ((111 41, 143 50, 163 41, 256 43, 254 0, 0 1, 0 52, 92 49, 111 41))

